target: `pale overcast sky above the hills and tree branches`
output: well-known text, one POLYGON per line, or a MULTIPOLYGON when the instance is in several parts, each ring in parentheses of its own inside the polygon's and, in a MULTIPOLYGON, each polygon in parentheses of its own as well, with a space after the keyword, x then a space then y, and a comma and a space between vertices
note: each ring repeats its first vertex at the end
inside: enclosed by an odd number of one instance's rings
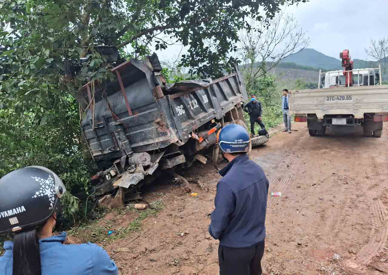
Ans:
MULTIPOLYGON (((350 50, 353 59, 372 60, 365 53, 370 40, 388 36, 388 0, 310 0, 285 9, 308 31, 309 48, 339 59, 350 50)), ((177 57, 182 46, 157 52, 161 60, 177 57)))

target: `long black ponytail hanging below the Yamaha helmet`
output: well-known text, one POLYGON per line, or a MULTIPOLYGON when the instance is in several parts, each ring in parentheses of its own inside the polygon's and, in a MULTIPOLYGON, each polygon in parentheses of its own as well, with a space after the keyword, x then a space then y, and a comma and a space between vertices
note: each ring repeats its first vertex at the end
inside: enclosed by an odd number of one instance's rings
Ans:
POLYGON ((14 236, 12 275, 41 275, 39 237, 36 229, 14 236))

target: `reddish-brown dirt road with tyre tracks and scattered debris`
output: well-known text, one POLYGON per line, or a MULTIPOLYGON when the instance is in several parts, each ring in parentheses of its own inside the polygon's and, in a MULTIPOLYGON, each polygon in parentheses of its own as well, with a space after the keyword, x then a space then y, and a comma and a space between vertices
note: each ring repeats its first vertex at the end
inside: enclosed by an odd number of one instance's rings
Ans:
MULTIPOLYGON (((282 192, 268 197, 265 270, 274 275, 388 272, 387 130, 381 138, 364 138, 360 129, 355 135, 329 131, 310 137, 305 123, 293 128, 298 131, 277 133, 251 155, 265 170, 270 192, 282 192)), ((165 209, 142 221, 140 235, 106 247, 110 254, 128 248, 113 256, 121 274, 218 274, 218 241, 207 233, 207 214, 219 176, 202 164, 185 176, 199 178, 209 191, 192 185, 194 198, 175 185, 154 185, 145 199, 161 198, 165 209)), ((104 219, 122 226, 130 217, 104 219)))

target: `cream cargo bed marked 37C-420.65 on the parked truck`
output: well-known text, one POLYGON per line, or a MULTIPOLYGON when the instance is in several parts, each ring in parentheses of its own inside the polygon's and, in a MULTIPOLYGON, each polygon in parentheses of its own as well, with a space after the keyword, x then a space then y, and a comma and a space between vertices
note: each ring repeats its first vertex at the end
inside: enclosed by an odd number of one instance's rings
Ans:
POLYGON ((325 115, 388 113, 388 85, 290 91, 290 114, 325 115))

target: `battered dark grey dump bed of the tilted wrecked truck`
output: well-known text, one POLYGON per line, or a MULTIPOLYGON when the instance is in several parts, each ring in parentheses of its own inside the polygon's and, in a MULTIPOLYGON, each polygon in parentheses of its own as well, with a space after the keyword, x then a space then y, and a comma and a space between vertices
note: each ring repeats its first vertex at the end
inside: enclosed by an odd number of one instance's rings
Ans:
POLYGON ((149 62, 131 59, 112 70, 117 81, 94 91, 90 83, 83 87, 78 101, 84 99, 88 108, 81 131, 95 161, 181 146, 193 131, 247 99, 237 67, 214 81, 174 85, 166 85, 160 69, 157 57, 149 62))

